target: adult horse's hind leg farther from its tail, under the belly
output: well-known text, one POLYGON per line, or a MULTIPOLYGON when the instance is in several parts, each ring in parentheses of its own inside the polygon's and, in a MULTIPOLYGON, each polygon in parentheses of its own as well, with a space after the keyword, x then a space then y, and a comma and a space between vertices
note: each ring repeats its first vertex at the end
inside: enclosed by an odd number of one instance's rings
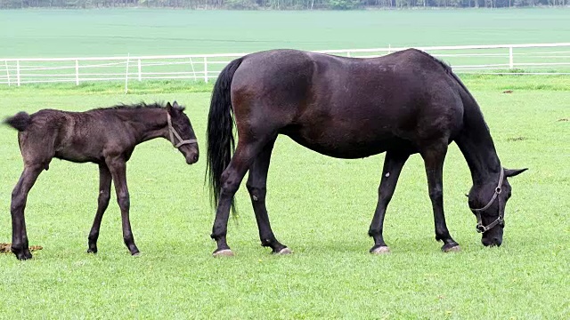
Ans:
POLYGON ((271 247, 273 253, 285 254, 290 253, 291 251, 287 246, 277 241, 273 235, 273 230, 269 223, 269 216, 267 215, 267 208, 265 207, 265 195, 267 194, 267 172, 269 171, 269 162, 274 143, 275 140, 267 143, 259 153, 259 156, 257 156, 254 163, 251 164, 246 187, 248 188, 253 210, 256 213, 257 228, 259 228, 261 245, 271 247))

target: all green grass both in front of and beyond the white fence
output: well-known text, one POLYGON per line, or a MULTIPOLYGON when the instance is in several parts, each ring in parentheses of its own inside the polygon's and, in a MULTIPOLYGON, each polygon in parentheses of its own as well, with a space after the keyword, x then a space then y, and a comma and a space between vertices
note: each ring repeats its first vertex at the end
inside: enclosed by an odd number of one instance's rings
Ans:
MULTIPOLYGON (((0 11, 0 43, 8 44, 0 46, 0 57, 567 42, 567 17, 567 10, 555 9, 0 11)), ((333 159, 281 137, 267 206, 276 236, 295 253, 273 257, 259 247, 242 186, 240 219, 230 221, 228 236, 237 256, 219 260, 210 255, 214 211, 203 185, 211 84, 133 83, 129 95, 120 83, 0 86, 0 118, 39 108, 80 111, 178 100, 187 107, 202 151, 199 163, 188 166, 167 140, 135 149, 127 178, 138 258, 122 243, 114 196, 99 253, 86 253, 97 168, 53 160, 30 192, 26 212, 30 244, 44 250, 26 262, 0 254, 0 318, 570 317, 570 81, 463 78, 483 108, 501 162, 530 168, 510 180, 513 197, 501 248, 480 244, 463 196, 471 186, 468 167, 454 144, 444 167, 444 206, 462 251, 439 251, 423 164, 412 156, 387 212, 385 239, 393 252, 377 257, 368 254, 367 231, 383 156, 333 159)), ((10 194, 22 169, 16 136, 0 125, 0 242, 12 236, 10 194)))

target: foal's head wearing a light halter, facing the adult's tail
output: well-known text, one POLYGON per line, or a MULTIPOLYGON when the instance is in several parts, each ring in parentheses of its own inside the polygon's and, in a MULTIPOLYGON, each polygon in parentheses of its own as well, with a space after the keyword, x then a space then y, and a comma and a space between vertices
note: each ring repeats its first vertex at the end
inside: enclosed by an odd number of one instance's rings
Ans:
POLYGON ((199 157, 198 140, 196 140, 190 119, 184 114, 184 108, 176 101, 172 105, 168 102, 167 116, 170 141, 186 158, 187 164, 196 163, 199 157))

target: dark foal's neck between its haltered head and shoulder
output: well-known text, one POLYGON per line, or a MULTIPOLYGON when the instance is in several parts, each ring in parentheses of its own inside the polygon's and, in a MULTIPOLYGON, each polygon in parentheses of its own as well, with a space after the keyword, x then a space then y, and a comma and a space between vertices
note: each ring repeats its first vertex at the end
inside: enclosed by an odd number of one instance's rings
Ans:
POLYGON ((167 112, 161 108, 140 108, 128 110, 128 122, 134 127, 137 144, 165 137, 167 112))

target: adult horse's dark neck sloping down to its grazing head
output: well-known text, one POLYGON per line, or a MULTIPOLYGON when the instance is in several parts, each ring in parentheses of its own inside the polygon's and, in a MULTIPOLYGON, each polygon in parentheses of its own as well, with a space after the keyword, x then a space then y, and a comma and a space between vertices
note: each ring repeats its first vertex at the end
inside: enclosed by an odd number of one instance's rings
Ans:
POLYGON ((455 141, 467 160, 474 185, 482 185, 501 172, 491 132, 476 104, 465 107, 463 129, 455 141))

